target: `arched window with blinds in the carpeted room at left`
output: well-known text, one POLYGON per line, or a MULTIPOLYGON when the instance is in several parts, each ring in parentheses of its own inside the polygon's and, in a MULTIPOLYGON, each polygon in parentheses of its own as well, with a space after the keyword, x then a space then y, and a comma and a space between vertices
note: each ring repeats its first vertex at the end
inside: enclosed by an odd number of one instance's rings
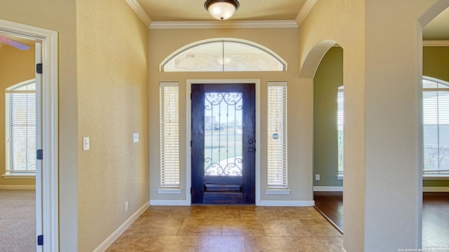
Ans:
POLYGON ((35 80, 5 90, 6 174, 36 172, 35 80))

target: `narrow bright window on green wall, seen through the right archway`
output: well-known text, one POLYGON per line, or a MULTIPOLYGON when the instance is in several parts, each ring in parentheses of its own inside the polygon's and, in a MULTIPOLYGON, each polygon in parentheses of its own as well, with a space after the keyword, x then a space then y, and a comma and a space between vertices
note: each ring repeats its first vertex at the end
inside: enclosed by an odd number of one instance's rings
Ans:
POLYGON ((338 141, 338 176, 343 179, 343 149, 344 149, 344 89, 337 90, 337 141, 338 141))

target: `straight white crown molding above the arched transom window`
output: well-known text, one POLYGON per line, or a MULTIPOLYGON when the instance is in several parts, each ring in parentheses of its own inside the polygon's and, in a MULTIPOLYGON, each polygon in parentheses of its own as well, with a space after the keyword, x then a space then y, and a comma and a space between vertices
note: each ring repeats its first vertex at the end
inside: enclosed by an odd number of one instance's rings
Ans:
POLYGON ((294 20, 268 21, 156 21, 149 29, 212 29, 212 28, 297 28, 294 20))

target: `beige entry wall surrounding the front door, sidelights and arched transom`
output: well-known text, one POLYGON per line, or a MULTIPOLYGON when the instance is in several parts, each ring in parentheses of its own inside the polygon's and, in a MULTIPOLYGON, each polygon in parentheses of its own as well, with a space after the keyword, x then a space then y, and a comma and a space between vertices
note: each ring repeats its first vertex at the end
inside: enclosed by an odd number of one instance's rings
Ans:
MULTIPOLYGON (((311 135, 309 124, 303 118, 311 116, 303 109, 304 100, 309 100, 311 89, 305 89, 297 76, 297 40, 295 28, 286 29, 150 29, 149 51, 149 139, 159 142, 159 82, 177 81, 180 85, 180 167, 182 193, 178 195, 158 194, 159 188, 159 146, 153 145, 149 151, 150 160, 150 197, 151 200, 186 200, 186 80, 187 79, 260 79, 261 80, 261 200, 279 200, 287 202, 311 201, 311 135), (264 45, 288 62, 287 72, 160 72, 159 64, 173 51, 195 41, 206 38, 241 38, 264 45), (265 195, 267 189, 267 81, 288 82, 288 187, 290 195, 265 195)), ((258 109, 257 109, 258 110, 258 109)), ((259 140, 257 140, 259 141, 259 140)), ((190 204, 190 202, 187 202, 190 204)))

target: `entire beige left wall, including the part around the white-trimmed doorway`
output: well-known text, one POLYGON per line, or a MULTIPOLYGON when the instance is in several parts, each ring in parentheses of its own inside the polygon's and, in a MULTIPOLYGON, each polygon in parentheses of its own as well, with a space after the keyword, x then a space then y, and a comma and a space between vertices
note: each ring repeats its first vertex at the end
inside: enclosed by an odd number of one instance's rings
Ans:
POLYGON ((58 31, 60 251, 93 251, 149 200, 148 29, 126 1, 0 4, 2 20, 58 31))

